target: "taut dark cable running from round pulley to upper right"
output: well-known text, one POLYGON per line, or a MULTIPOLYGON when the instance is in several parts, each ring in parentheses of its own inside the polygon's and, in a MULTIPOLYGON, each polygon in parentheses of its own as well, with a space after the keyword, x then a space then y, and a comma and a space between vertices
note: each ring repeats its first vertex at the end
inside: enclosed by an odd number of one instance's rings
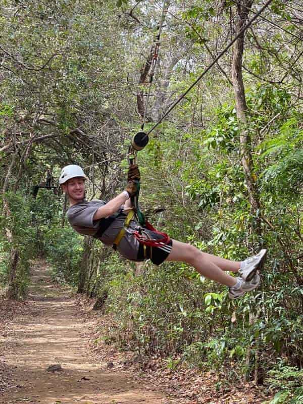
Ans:
POLYGON ((265 5, 256 13, 251 20, 239 31, 239 33, 234 37, 234 39, 229 42, 229 44, 220 52, 216 59, 200 74, 200 76, 187 88, 187 90, 177 99, 177 101, 166 111, 162 118, 146 133, 145 136, 148 136, 154 129, 157 128, 158 125, 163 121, 163 119, 180 103, 180 101, 185 97, 185 95, 203 78, 206 73, 222 58, 224 54, 228 51, 228 49, 234 44, 234 42, 246 31, 248 27, 260 16, 260 14, 267 9, 267 7, 271 4, 272 0, 268 0, 265 5))

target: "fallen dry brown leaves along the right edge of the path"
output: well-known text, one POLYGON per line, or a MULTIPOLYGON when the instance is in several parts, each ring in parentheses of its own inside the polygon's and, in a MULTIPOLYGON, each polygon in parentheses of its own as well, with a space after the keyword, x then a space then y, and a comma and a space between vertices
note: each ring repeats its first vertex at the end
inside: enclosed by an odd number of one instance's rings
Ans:
MULTIPOLYGON (((86 319, 89 318, 91 304, 90 299, 79 302, 86 319)), ((89 321, 87 337, 90 338, 89 345, 95 360, 98 363, 112 363, 111 368, 114 367, 116 372, 125 372, 140 384, 146 383, 150 390, 163 392, 167 396, 164 404, 261 404, 269 399, 262 386, 252 383, 243 385, 238 380, 234 385, 228 385, 222 380, 222 375, 219 380, 215 372, 188 369, 182 364, 171 371, 162 358, 142 358, 134 352, 120 352, 102 339, 103 330, 110 325, 110 317, 100 317, 93 312, 89 321), (97 346, 93 343, 96 339, 99 341, 97 346), (226 387, 221 387, 225 384, 226 387)))

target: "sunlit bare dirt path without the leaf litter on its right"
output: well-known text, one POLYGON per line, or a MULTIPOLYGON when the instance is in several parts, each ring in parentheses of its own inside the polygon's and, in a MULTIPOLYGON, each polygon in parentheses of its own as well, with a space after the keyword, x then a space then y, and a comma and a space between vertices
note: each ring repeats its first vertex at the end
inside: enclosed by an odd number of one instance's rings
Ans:
POLYGON ((27 312, 0 333, 0 404, 167 402, 150 386, 94 362, 75 300, 54 287, 43 262, 33 266, 31 279, 27 312), (47 372, 54 364, 63 371, 47 372))

